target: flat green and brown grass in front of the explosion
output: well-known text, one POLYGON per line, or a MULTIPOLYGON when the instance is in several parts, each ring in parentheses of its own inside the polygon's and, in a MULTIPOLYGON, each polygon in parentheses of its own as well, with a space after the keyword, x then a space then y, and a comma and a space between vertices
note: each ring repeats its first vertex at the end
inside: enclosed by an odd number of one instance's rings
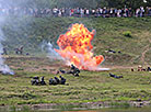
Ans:
MULTIPOLYGON (((0 75, 0 104, 82 103, 97 101, 151 100, 151 72, 130 69, 111 71, 81 71, 80 77, 62 75, 69 86, 49 86, 55 69, 69 69, 60 61, 48 58, 10 57, 7 63, 14 76, 0 75), (30 71, 31 69, 31 71, 30 71), (123 75, 114 79, 108 72, 123 75), (32 86, 34 76, 44 76, 47 86, 32 86)), ((112 103, 111 103, 112 104, 112 103)))

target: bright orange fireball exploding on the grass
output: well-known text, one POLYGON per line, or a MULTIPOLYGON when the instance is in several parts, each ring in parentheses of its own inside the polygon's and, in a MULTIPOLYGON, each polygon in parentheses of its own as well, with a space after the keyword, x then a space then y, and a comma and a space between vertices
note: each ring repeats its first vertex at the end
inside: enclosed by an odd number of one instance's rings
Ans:
POLYGON ((97 70, 104 57, 102 55, 93 57, 91 42, 94 34, 94 30, 90 32, 83 24, 72 24, 66 34, 60 35, 57 41, 60 49, 55 51, 79 69, 97 70))

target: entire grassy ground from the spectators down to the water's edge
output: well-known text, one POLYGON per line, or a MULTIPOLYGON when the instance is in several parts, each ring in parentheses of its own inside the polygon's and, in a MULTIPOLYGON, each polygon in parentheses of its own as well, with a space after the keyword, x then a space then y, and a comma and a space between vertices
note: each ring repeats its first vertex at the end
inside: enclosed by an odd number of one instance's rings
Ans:
POLYGON ((5 63, 15 75, 0 75, 0 105, 38 103, 84 103, 98 101, 151 101, 151 72, 137 71, 137 66, 151 65, 151 18, 24 18, 8 20, 3 26, 3 42, 9 55, 5 63), (48 80, 58 69, 70 69, 62 61, 46 58, 40 51, 43 41, 56 41, 72 23, 83 23, 95 30, 92 45, 95 55, 103 55, 103 67, 109 71, 81 71, 80 77, 62 75, 69 85, 49 86, 48 80), (15 24, 15 25, 14 25, 15 24), (24 45, 24 54, 16 56, 14 48, 24 45), (105 51, 113 49, 109 54, 105 51), (117 52, 120 52, 117 53, 117 52), (130 71, 133 67, 135 71, 130 71), (124 76, 109 77, 109 72, 124 76), (34 76, 44 76, 47 86, 32 86, 34 76))

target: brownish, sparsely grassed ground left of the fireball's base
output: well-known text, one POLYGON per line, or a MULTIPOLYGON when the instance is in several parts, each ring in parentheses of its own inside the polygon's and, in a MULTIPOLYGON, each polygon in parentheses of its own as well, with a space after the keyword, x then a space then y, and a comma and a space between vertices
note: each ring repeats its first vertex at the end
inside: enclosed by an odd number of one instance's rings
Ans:
POLYGON ((68 66, 65 65, 62 61, 59 60, 50 60, 49 58, 44 57, 4 57, 5 63, 11 67, 13 70, 18 71, 47 71, 53 72, 60 69, 67 68, 68 66))

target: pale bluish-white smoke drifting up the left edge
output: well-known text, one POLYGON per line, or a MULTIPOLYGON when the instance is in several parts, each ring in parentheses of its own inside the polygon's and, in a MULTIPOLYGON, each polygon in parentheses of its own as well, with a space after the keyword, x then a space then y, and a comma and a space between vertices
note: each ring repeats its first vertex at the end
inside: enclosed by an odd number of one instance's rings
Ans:
MULTIPOLYGON (((27 1, 27 0, 26 0, 27 1)), ((5 26, 5 23, 10 20, 11 24, 14 24, 14 20, 11 19, 12 14, 9 14, 10 10, 12 8, 16 9, 22 5, 25 5, 25 0, 0 0, 0 72, 4 75, 14 75, 13 70, 10 69, 8 65, 4 64, 3 59, 3 45, 2 43, 5 41, 5 35, 3 33, 3 26, 5 26)), ((14 13, 15 18, 20 18, 21 14, 14 13)), ((14 24, 14 26, 18 27, 18 24, 14 24)), ((13 27, 15 30, 16 27, 13 27)), ((18 30, 18 29, 16 29, 18 30)), ((10 40, 10 38, 9 38, 10 40)), ((7 46, 7 45, 5 45, 7 46)))

